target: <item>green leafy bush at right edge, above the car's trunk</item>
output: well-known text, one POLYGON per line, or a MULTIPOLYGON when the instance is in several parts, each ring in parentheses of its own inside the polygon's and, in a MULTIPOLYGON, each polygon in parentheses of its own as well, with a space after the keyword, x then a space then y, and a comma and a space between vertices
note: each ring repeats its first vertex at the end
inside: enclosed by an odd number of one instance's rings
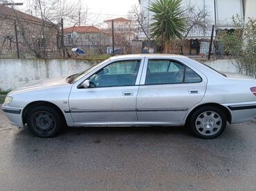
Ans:
POLYGON ((221 32, 219 40, 223 50, 240 73, 256 77, 256 19, 248 19, 247 23, 236 16, 232 17, 234 31, 221 32))

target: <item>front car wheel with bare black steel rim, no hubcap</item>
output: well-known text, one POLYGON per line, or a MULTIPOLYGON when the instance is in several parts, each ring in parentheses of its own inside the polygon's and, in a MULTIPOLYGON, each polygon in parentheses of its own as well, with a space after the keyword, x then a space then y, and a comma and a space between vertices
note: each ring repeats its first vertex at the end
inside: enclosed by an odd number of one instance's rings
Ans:
POLYGON ((27 124, 38 137, 55 137, 62 128, 62 117, 53 108, 40 105, 28 112, 27 124))

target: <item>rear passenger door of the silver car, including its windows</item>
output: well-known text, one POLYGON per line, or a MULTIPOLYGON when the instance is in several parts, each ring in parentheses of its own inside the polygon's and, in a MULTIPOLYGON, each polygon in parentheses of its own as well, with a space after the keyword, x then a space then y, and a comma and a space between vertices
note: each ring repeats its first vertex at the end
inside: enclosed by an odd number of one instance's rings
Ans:
POLYGON ((138 121, 180 123, 203 99, 206 83, 203 75, 181 61, 145 59, 137 97, 138 121))

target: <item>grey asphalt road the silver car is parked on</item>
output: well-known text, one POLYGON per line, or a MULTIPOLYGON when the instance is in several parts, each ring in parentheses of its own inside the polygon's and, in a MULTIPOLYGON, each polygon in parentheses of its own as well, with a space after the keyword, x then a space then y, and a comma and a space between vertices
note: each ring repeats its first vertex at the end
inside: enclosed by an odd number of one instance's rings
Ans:
POLYGON ((42 139, 0 112, 0 190, 256 190, 256 123, 212 140, 185 128, 69 128, 42 139))

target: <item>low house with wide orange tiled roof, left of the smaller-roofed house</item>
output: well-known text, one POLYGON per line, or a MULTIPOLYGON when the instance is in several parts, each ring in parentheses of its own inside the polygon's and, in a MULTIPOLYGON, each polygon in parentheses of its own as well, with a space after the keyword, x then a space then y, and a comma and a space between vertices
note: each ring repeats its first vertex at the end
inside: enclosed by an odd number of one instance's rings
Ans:
POLYGON ((73 26, 64 29, 64 44, 68 50, 80 48, 86 54, 104 54, 111 46, 111 37, 95 26, 73 26))

